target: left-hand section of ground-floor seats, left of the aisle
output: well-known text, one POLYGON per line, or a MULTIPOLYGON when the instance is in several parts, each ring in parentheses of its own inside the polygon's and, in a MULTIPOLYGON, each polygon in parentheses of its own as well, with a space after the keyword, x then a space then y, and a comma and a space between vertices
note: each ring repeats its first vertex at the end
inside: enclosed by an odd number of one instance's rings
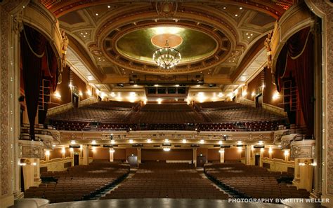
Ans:
POLYGON ((39 197, 54 202, 87 200, 106 188, 115 186, 129 174, 129 165, 96 162, 78 165, 63 172, 46 172, 41 179, 53 178, 56 182, 41 183, 25 190, 25 198, 39 197))

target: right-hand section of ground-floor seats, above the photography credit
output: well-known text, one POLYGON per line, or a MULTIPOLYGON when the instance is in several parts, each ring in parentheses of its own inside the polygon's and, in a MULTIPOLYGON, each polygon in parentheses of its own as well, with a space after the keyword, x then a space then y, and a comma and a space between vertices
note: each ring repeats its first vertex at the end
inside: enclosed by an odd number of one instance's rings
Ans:
POLYGON ((307 198, 310 193, 287 183, 278 183, 280 172, 268 172, 258 166, 240 162, 215 163, 204 166, 209 179, 240 197, 252 198, 307 198))

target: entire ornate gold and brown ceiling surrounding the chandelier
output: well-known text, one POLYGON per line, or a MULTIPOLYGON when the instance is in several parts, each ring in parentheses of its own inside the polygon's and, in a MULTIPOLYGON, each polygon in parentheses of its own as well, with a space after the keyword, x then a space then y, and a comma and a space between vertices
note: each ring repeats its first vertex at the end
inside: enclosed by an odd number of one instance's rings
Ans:
POLYGON ((110 90, 133 74, 200 74, 204 83, 215 81, 220 90, 237 87, 263 67, 263 41, 292 5, 287 0, 41 2, 74 39, 70 48, 92 66, 83 74, 94 78, 86 80, 110 90), (182 55, 172 70, 152 62, 165 39, 182 55))

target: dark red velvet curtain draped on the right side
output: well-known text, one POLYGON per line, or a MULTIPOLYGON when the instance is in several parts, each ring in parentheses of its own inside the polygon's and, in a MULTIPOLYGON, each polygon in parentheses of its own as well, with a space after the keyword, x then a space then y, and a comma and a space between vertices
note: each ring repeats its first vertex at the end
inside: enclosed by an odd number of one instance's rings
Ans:
POLYGON ((275 83, 278 92, 282 88, 282 78, 287 67, 296 71, 296 84, 299 91, 299 99, 303 118, 308 127, 307 134, 313 135, 314 119, 314 81, 313 81, 313 35, 310 27, 301 29, 291 36, 283 46, 275 70, 275 83))

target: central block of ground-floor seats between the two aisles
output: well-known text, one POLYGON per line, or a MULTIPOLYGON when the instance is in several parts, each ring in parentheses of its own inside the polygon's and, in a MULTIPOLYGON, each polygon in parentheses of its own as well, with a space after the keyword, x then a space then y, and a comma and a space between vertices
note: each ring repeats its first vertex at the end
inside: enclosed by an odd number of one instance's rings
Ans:
POLYGON ((188 163, 145 162, 105 199, 190 198, 226 200, 228 195, 202 178, 188 163))

